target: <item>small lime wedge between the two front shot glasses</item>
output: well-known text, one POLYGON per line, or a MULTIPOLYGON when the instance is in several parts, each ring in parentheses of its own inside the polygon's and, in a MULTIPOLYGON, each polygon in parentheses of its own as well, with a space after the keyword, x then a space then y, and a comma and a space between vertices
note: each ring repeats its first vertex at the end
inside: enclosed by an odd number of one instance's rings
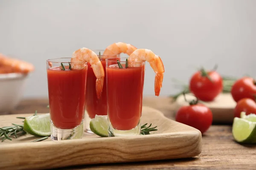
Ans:
POLYGON ((98 136, 108 137, 108 116, 95 115, 90 121, 90 130, 98 136))

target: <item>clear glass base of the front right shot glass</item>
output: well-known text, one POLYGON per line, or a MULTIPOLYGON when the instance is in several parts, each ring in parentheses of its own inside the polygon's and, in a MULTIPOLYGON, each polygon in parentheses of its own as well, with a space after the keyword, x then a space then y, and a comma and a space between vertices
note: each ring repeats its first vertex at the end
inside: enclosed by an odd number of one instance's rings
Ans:
POLYGON ((131 130, 116 130, 112 127, 111 123, 108 121, 108 137, 112 136, 134 136, 140 135, 141 123, 139 122, 136 127, 131 130))

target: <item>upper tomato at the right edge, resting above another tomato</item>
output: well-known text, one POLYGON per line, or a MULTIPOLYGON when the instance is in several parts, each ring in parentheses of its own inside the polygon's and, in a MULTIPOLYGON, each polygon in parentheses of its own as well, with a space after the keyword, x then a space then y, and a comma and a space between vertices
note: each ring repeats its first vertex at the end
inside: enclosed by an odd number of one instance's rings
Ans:
POLYGON ((243 98, 254 100, 254 95, 256 95, 256 82, 251 77, 238 79, 231 88, 231 94, 236 102, 243 98))

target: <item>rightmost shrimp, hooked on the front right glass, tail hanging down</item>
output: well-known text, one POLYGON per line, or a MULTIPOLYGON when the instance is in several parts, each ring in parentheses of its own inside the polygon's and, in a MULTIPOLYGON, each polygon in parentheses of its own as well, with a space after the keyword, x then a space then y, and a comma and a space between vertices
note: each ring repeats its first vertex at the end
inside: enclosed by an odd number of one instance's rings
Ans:
MULTIPOLYGON (((147 61, 149 62, 151 68, 153 68, 156 73, 155 82, 154 82, 154 91, 155 96, 159 96, 160 89, 162 87, 163 82, 163 73, 164 66, 161 58, 154 54, 151 50, 148 49, 137 49, 135 50, 129 57, 128 62, 133 61, 147 61)), ((129 63, 130 67, 134 67, 134 63, 129 63)))

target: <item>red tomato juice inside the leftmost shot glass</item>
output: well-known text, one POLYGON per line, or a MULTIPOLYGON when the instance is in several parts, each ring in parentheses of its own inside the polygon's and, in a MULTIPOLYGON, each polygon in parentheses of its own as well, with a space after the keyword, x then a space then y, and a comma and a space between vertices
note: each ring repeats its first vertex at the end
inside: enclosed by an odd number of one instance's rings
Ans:
POLYGON ((83 121, 86 78, 87 65, 81 70, 68 66, 65 70, 47 69, 50 116, 55 127, 73 129, 83 121))

